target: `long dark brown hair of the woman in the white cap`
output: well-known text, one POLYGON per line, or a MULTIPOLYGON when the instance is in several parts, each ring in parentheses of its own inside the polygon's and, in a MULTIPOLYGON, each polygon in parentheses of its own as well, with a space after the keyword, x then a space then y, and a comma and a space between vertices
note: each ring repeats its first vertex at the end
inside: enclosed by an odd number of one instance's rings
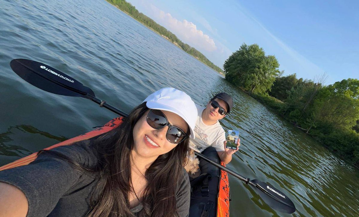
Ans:
MULTIPOLYGON (((93 145, 98 150, 98 167, 95 170, 93 168, 82 168, 82 170, 96 171, 99 178, 104 180, 104 185, 97 186, 97 188, 101 186, 102 189, 98 198, 91 204, 88 217, 134 216, 129 208, 129 193, 134 192, 130 184, 130 157, 134 147, 132 132, 137 121, 147 110, 146 103, 142 103, 132 110, 121 125, 102 134, 94 141, 93 145)), ((182 165, 187 147, 188 138, 168 153, 160 155, 146 170, 147 186, 141 195, 143 209, 139 216, 178 216, 176 191, 177 184, 183 176, 182 165)), ((79 165, 69 161, 75 164, 75 168, 79 168, 79 165)))

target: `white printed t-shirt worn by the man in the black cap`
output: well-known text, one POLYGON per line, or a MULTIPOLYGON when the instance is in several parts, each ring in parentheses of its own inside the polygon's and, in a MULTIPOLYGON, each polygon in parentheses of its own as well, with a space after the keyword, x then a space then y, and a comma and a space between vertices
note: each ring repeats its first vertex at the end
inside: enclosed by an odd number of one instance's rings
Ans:
POLYGON ((222 126, 217 121, 213 125, 206 125, 202 121, 202 112, 205 109, 202 106, 196 105, 198 116, 195 126, 195 139, 190 139, 190 148, 197 152, 202 152, 204 149, 212 146, 216 151, 224 151, 225 133, 222 126))

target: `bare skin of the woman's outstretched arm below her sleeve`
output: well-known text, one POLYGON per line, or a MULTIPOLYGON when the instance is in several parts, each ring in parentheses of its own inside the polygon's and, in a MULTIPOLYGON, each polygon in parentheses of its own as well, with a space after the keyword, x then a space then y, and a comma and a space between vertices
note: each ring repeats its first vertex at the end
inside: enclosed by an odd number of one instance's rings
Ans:
POLYGON ((28 207, 25 194, 20 189, 0 182, 0 217, 25 217, 28 207))

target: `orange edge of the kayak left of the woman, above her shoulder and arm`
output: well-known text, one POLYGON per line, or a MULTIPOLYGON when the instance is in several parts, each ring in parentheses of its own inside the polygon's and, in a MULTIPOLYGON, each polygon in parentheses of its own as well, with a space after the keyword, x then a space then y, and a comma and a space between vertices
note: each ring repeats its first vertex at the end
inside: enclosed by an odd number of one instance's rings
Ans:
MULTIPOLYGON (((97 135, 106 133, 107 131, 110 131, 110 130, 114 129, 114 128, 116 128, 116 126, 121 124, 122 119, 123 119, 123 117, 116 117, 116 118, 112 119, 111 121, 108 121, 107 124, 97 128, 95 130, 92 130, 92 131, 90 131, 88 133, 79 135, 79 136, 71 138, 71 139, 67 139, 64 142, 57 143, 57 144, 55 144, 53 146, 44 148, 44 150, 50 150, 52 148, 56 148, 56 147, 59 147, 59 146, 66 146, 66 145, 72 144, 74 142, 89 139, 89 138, 95 137, 97 135)), ((0 171, 10 169, 10 168, 14 168, 14 167, 18 167, 18 166, 28 165, 29 163, 33 162, 37 158, 37 153, 38 152, 32 153, 32 154, 30 154, 30 155, 28 155, 26 157, 20 158, 19 160, 16 160, 14 162, 11 162, 11 163, 8 163, 8 164, 6 164, 4 166, 1 166, 0 171)))

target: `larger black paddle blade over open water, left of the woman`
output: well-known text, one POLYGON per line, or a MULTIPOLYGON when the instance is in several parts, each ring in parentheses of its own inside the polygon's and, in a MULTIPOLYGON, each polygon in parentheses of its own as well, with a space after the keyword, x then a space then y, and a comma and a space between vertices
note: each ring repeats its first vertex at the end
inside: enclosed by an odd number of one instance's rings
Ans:
POLYGON ((63 96, 84 98, 87 98, 87 95, 95 96, 92 89, 46 64, 27 59, 14 59, 11 60, 10 66, 20 78, 44 91, 63 96))

